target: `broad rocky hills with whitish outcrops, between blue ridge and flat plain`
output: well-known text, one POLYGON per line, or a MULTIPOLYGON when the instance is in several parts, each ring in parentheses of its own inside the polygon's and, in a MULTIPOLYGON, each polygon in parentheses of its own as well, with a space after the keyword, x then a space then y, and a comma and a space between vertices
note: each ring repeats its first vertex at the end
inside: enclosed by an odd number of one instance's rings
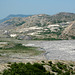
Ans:
MULTIPOLYGON (((74 20, 75 14, 66 12, 52 16, 47 14, 38 14, 28 17, 14 16, 0 23, 0 29, 6 30, 10 34, 17 34, 17 38, 30 36, 33 39, 61 39, 60 36, 67 30, 66 27, 70 26, 74 20)), ((73 30, 73 28, 71 28, 71 30, 73 30)), ((70 35, 71 33, 68 32, 67 34, 70 35)), ((73 35, 72 38, 74 38, 73 35)), ((64 36, 62 37, 66 39, 64 36)))

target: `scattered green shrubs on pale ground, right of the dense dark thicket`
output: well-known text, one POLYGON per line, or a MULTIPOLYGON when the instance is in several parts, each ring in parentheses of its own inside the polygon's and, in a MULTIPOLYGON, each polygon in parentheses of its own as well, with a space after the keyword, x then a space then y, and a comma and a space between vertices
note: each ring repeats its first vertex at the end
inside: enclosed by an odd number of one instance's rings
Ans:
POLYGON ((54 75, 75 75, 73 64, 64 64, 62 62, 57 62, 55 64, 52 63, 52 61, 48 62, 48 65, 50 66, 53 73, 56 73, 54 75))

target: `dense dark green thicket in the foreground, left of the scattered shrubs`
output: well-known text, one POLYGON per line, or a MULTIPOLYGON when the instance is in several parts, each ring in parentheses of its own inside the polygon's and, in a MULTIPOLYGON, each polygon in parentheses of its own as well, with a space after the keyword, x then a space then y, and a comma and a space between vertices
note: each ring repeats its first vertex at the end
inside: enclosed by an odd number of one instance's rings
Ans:
POLYGON ((10 68, 3 71, 3 75, 50 75, 39 63, 13 63, 10 68))

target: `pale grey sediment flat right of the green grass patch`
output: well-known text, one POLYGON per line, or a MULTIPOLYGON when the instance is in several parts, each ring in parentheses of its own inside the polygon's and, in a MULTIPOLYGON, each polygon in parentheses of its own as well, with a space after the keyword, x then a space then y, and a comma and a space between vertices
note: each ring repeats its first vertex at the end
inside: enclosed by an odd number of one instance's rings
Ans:
POLYGON ((29 44, 45 50, 47 60, 75 61, 75 40, 31 41, 29 44))

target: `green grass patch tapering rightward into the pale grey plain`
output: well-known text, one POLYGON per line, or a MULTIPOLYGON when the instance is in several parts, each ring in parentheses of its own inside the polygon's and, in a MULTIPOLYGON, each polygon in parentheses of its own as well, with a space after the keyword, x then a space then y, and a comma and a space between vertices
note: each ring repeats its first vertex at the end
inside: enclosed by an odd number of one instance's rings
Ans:
POLYGON ((0 53, 7 53, 7 55, 11 54, 11 53, 25 53, 25 54, 30 54, 30 55, 39 55, 41 54, 43 51, 39 51, 37 50, 38 48, 36 47, 26 47, 23 46, 22 44, 8 44, 5 47, 1 47, 0 48, 0 53))

